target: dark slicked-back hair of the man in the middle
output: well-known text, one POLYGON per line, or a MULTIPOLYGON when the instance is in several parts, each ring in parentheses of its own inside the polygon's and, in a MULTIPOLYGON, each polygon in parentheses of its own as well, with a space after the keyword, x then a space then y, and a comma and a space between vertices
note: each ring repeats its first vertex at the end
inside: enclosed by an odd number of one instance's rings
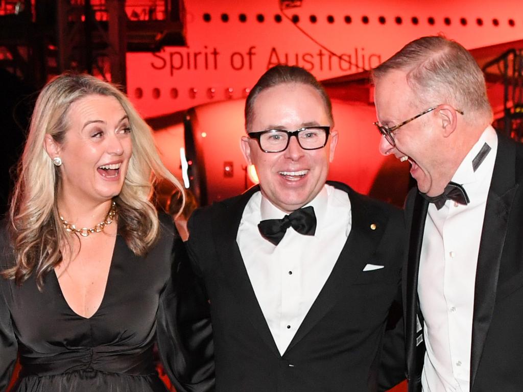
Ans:
POLYGON ((331 98, 329 98, 320 82, 318 82, 309 71, 306 71, 301 67, 276 65, 270 68, 265 74, 261 75, 258 82, 256 82, 247 96, 247 101, 245 102, 245 130, 247 132, 255 131, 251 129, 251 127, 255 116, 254 102, 258 95, 261 91, 281 84, 303 84, 314 88, 322 98, 331 126, 334 125, 331 98))

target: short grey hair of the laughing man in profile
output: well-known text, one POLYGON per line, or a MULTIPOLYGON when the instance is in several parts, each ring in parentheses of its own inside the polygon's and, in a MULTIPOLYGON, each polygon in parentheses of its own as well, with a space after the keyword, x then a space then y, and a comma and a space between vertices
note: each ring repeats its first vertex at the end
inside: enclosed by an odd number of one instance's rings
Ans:
POLYGON ((448 103, 468 114, 492 119, 485 77, 469 51, 443 36, 407 43, 372 70, 374 83, 391 71, 407 74, 407 83, 423 105, 448 103))

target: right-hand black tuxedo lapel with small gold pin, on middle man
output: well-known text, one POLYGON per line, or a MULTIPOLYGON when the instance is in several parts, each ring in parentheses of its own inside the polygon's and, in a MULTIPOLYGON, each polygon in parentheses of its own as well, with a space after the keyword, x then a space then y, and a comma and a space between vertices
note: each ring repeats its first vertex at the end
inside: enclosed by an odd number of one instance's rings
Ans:
POLYGON ((371 259, 372 252, 378 247, 383 234, 380 228, 384 229, 386 226, 387 218, 382 214, 377 214, 376 211, 369 210, 361 200, 360 195, 343 184, 331 181, 328 184, 349 193, 352 216, 350 234, 331 274, 286 351, 291 350, 295 344, 303 339, 337 301, 345 298, 346 290, 344 290, 344 287, 356 280, 366 263, 371 259), (372 230, 371 224, 376 224, 378 229, 372 230))

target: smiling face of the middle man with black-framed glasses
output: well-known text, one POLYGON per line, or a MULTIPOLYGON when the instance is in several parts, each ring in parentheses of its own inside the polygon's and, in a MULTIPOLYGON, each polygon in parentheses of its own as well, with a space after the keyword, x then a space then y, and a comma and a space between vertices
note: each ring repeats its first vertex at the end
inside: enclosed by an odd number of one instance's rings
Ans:
MULTIPOLYGON (((319 93, 304 84, 286 83, 263 90, 253 109, 252 132, 332 125, 319 93)), ((337 140, 337 132, 331 131, 325 147, 304 150, 291 137, 285 151, 264 153, 256 140, 243 136, 242 150, 247 162, 256 167, 263 195, 280 210, 291 212, 309 203, 321 191, 337 140)))

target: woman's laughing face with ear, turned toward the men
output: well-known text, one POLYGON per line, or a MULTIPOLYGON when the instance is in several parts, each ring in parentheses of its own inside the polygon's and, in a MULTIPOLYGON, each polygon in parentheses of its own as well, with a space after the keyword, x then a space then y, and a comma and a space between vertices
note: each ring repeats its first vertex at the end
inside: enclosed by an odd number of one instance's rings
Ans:
POLYGON ((50 157, 62 159, 59 198, 110 200, 122 189, 132 153, 126 112, 115 97, 89 95, 71 104, 67 120, 63 143, 46 137, 50 157))

